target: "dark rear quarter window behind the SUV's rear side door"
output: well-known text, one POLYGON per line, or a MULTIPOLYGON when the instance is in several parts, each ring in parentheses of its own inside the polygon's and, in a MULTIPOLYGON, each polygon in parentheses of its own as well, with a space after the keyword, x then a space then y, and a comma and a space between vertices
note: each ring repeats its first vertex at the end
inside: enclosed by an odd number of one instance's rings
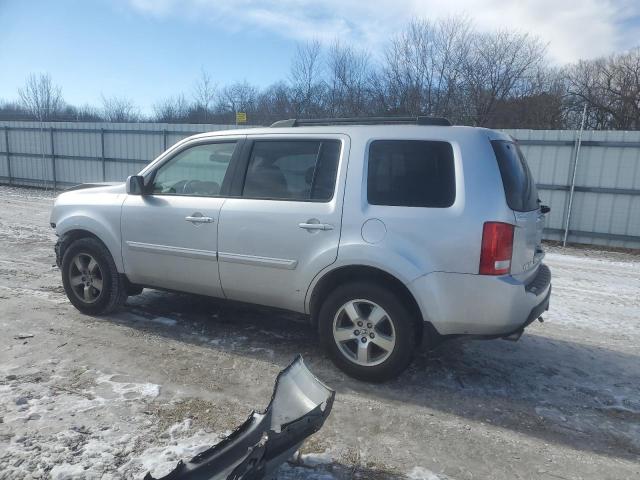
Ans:
POLYGON ((447 142, 376 140, 369 147, 371 205, 445 208, 456 198, 453 149, 447 142))

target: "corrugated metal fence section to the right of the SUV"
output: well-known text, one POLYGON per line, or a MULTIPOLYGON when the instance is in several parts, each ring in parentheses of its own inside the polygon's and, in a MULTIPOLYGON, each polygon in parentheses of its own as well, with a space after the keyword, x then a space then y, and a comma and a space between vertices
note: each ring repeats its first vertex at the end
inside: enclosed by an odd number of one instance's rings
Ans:
MULTIPOLYGON (((508 133, 521 141, 540 198, 552 208, 545 236, 560 240, 567 227, 576 132, 508 133)), ((577 161, 569 241, 640 248, 640 132, 584 132, 577 161)))

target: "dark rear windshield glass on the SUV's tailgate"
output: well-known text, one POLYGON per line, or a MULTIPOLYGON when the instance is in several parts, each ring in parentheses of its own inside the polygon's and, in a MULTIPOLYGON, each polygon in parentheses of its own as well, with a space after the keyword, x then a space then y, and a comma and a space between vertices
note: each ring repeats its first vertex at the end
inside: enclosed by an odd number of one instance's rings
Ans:
POLYGON ((520 147, 505 140, 493 140, 491 145, 498 160, 509 208, 517 212, 536 210, 538 189, 520 147))

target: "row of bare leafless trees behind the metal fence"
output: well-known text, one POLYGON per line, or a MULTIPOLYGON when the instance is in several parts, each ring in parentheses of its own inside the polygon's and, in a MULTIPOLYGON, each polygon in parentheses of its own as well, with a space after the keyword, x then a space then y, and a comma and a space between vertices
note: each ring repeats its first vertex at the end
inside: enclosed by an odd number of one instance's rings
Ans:
MULTIPOLYGON (((553 69, 531 35, 479 32, 465 17, 414 20, 389 41, 381 61, 344 41, 297 46, 289 76, 258 89, 247 81, 218 88, 204 69, 188 99, 153 106, 168 122, 250 123, 321 116, 435 115, 495 128, 577 126, 640 129, 640 48, 553 69)), ((102 109, 65 105, 49 75, 30 75, 20 102, 0 104, 2 119, 136 121, 133 102, 103 97, 102 109)))

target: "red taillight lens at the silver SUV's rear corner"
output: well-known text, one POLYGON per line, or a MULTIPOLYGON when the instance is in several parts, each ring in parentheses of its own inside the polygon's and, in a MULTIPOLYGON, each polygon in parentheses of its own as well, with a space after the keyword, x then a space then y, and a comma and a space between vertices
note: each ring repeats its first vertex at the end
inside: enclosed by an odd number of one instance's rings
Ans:
POLYGON ((513 225, 486 222, 482 228, 480 275, 504 275, 511 271, 513 225))

